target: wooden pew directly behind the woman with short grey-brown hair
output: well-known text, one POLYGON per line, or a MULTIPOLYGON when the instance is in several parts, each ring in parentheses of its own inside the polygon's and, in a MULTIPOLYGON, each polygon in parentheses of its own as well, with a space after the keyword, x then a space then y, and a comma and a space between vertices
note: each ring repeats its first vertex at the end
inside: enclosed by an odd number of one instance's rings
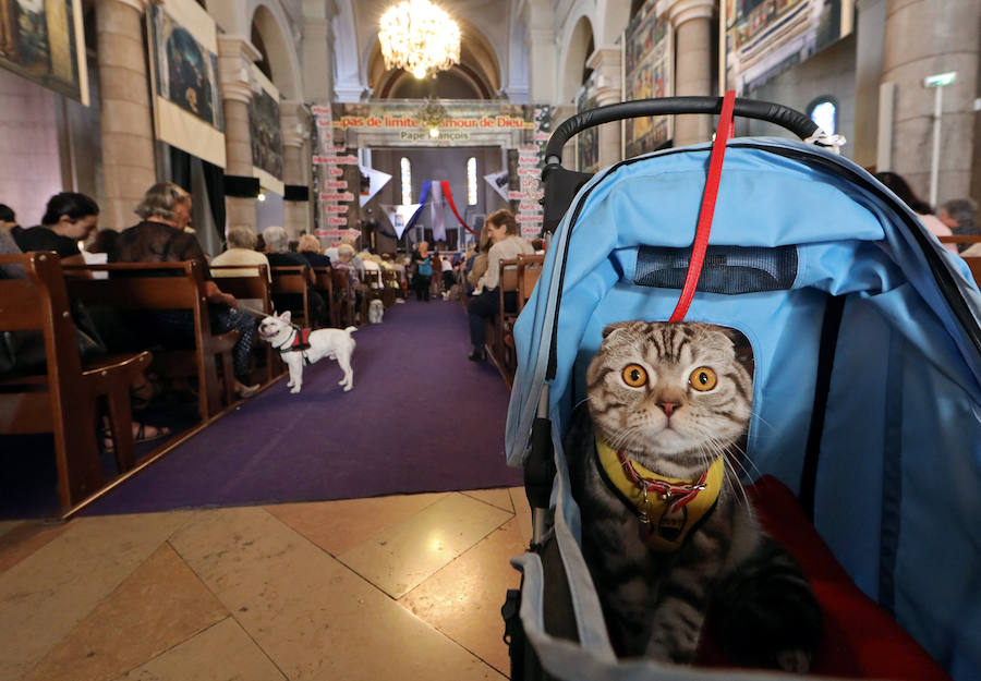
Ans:
POLYGON ((222 381, 218 378, 216 361, 216 357, 220 357, 225 378, 225 404, 230 408, 235 402, 231 352, 239 332, 232 330, 220 335, 211 333, 208 304, 204 296, 204 275, 195 262, 113 263, 64 269, 66 272, 109 272, 109 279, 68 280, 72 297, 92 305, 108 305, 129 312, 191 311, 194 319, 194 348, 158 352, 153 366, 164 376, 196 376, 197 411, 202 421, 208 422, 223 409, 222 381))

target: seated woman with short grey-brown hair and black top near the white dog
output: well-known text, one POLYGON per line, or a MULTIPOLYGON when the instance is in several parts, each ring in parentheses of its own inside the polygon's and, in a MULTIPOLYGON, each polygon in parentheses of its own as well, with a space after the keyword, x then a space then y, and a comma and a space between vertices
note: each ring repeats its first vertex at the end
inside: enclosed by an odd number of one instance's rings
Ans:
MULTIPOLYGON (((195 260, 205 278, 205 297, 211 305, 211 327, 217 333, 239 329, 239 340, 232 351, 235 373, 235 393, 249 398, 258 385, 245 385, 249 379, 249 354, 255 338, 255 319, 235 309, 235 296, 223 293, 211 280, 208 262, 197 238, 184 231, 191 222, 191 194, 177 184, 160 182, 146 191, 134 212, 141 222, 120 233, 110 263, 180 263, 195 260)), ((148 317, 154 340, 186 342, 194 337, 194 318, 186 309, 156 312, 148 317)))

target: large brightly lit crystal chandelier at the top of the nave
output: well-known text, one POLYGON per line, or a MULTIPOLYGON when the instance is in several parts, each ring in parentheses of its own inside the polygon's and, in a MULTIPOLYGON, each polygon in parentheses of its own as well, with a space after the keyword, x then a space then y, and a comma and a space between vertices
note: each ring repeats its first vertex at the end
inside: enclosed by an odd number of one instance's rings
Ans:
POLYGON ((378 40, 386 69, 417 78, 460 61, 460 28, 429 0, 403 0, 382 15, 378 40))

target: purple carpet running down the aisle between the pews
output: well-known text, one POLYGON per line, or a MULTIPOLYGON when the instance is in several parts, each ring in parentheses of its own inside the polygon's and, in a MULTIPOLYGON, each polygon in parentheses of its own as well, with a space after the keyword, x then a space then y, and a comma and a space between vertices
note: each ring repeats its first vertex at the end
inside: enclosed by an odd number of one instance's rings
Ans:
POLYGON ((521 484, 505 464, 508 391, 467 360, 459 303, 410 301, 354 335, 354 389, 332 361, 243 403, 94 503, 134 513, 521 484))

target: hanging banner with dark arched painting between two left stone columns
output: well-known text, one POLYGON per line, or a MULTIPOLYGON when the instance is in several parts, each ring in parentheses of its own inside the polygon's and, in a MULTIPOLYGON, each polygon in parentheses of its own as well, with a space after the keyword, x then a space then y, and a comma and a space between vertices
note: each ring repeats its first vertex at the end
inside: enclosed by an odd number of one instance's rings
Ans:
POLYGON ((215 21, 193 0, 150 4, 146 16, 157 138, 225 168, 215 21))

